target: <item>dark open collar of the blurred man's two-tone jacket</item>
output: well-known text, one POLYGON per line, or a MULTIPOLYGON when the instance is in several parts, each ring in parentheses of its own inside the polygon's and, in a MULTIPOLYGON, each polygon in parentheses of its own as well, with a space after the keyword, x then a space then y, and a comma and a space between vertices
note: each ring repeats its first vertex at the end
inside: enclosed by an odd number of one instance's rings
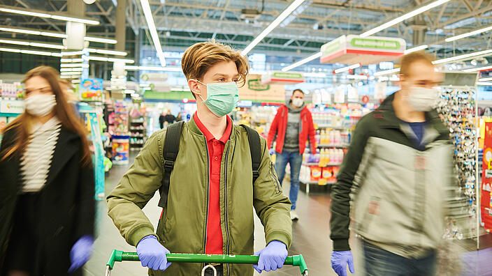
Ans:
MULTIPOLYGON (((395 93, 389 95, 381 104, 381 106, 375 110, 375 116, 383 118, 381 123, 382 128, 395 128, 399 129, 407 135, 407 137, 412 137, 414 135, 413 131, 409 128, 405 128, 402 121, 396 117, 395 109, 393 108, 393 100, 395 99, 395 93)), ((429 143, 435 138, 447 133, 447 128, 444 127, 439 115, 435 110, 426 112, 426 128, 424 131, 424 137, 422 139, 423 143, 429 143)))

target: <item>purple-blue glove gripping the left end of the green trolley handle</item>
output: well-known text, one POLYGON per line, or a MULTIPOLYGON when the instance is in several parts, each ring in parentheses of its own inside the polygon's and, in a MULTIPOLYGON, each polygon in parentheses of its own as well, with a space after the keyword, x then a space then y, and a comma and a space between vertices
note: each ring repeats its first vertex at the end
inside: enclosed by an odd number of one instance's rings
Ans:
POLYGON ((137 245, 137 254, 142 266, 153 270, 166 270, 171 263, 168 263, 166 254, 171 253, 166 247, 159 243, 153 235, 141 239, 137 245))

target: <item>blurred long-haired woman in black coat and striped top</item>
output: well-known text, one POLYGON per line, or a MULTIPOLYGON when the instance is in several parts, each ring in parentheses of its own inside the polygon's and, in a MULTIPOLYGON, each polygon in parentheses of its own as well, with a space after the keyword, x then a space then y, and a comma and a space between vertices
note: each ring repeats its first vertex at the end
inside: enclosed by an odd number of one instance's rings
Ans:
POLYGON ((3 136, 1 275, 82 275, 92 254, 92 160, 58 74, 48 66, 27 72, 26 111, 3 136))

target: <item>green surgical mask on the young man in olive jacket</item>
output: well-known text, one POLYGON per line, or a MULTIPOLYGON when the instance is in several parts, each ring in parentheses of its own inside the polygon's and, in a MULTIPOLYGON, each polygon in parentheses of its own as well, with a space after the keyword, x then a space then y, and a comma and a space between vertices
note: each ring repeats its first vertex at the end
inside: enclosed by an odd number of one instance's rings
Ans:
POLYGON ((238 85, 236 82, 221 82, 213 84, 204 84, 198 79, 197 82, 207 86, 207 100, 203 104, 210 111, 219 116, 226 116, 231 113, 239 102, 238 85))

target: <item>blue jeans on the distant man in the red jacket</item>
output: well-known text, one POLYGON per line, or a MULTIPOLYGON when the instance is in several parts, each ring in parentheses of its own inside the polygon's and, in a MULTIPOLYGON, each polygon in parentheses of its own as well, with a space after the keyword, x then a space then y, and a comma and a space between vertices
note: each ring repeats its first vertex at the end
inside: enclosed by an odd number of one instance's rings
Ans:
POLYGON ((289 193, 289 199, 291 200, 291 210, 296 210, 297 194, 299 193, 299 173, 301 173, 301 164, 303 164, 303 155, 296 152, 282 151, 277 153, 277 160, 275 160, 275 171, 277 171, 278 180, 280 185, 284 181, 285 167, 287 163, 291 166, 291 191, 289 193))

